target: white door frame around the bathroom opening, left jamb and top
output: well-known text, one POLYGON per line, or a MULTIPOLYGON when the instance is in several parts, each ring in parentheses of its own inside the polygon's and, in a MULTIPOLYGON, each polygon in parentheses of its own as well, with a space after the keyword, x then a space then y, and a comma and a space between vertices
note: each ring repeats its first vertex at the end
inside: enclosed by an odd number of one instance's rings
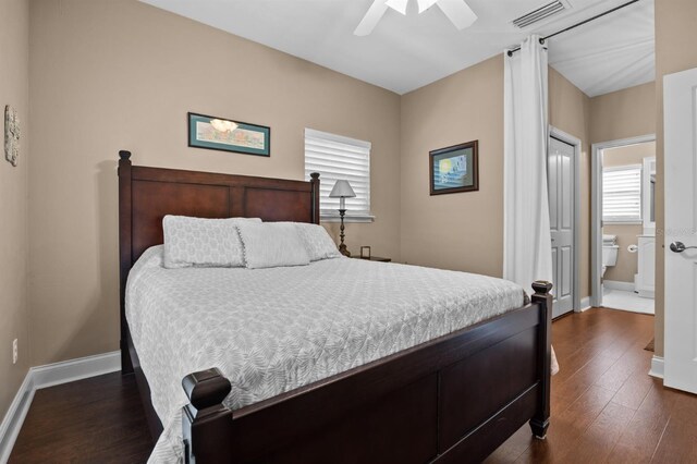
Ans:
POLYGON ((610 148, 656 142, 656 134, 592 144, 590 157, 590 306, 602 306, 602 152, 610 148))

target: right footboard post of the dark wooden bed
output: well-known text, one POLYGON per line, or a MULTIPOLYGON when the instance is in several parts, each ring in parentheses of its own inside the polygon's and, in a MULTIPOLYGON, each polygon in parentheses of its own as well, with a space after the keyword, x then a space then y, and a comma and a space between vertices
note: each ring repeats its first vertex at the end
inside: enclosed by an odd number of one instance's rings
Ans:
POLYGON ((533 282, 535 294, 530 300, 540 308, 540 325, 538 330, 537 373, 540 382, 538 384, 537 410, 530 419, 533 435, 545 439, 549 428, 550 392, 552 371, 552 284, 545 280, 533 282))

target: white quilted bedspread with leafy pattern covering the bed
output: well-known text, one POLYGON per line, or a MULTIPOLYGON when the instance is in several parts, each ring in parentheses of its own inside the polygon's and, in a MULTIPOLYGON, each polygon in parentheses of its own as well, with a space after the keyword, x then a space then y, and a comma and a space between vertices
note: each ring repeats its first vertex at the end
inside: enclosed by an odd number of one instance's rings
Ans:
POLYGON ((184 376, 218 367, 232 410, 274 396, 523 305, 485 276, 335 258, 271 269, 135 264, 126 317, 164 432, 150 462, 182 459, 184 376))

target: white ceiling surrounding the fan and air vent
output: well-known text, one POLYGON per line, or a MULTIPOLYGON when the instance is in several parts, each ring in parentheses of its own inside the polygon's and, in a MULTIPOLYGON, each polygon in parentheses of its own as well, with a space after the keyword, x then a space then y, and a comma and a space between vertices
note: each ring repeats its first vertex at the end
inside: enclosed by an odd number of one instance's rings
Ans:
MULTIPOLYGON (((392 9, 366 37, 353 34, 372 0, 142 0, 398 94, 501 53, 529 34, 561 30, 627 0, 567 0, 525 29, 511 21, 549 0, 467 0, 478 15, 457 30, 438 8, 392 9)), ((549 42, 550 64, 588 96, 655 76, 653 0, 640 0, 549 42)))

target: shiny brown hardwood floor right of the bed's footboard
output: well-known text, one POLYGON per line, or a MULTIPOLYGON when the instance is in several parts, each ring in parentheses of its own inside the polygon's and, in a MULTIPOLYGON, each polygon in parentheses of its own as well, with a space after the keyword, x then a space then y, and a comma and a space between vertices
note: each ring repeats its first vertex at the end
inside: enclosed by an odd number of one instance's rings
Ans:
POLYGON ((589 309, 552 325, 547 440, 521 428, 492 463, 697 463, 697 396, 647 375, 653 316, 589 309))

